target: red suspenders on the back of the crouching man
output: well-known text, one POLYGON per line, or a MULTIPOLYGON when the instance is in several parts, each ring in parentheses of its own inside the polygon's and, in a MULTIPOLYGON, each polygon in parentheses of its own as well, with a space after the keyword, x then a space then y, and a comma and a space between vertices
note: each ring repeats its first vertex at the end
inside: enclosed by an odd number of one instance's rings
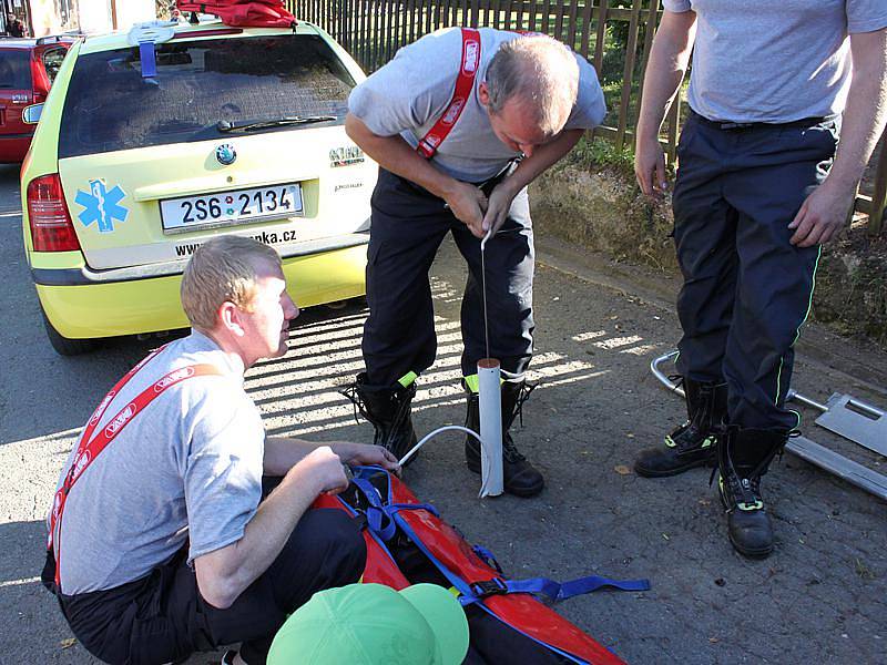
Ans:
POLYGON ((111 391, 104 396, 104 399, 93 412, 92 418, 90 418, 89 422, 86 422, 86 427, 83 428, 83 434, 80 437, 77 454, 74 456, 71 469, 69 469, 68 474, 64 478, 62 487, 58 492, 55 492, 55 499, 52 502, 52 514, 50 515, 47 549, 52 549, 53 538, 55 538, 55 544, 59 545, 58 554, 55 556, 55 586, 59 590, 61 590, 61 582, 59 580, 59 561, 61 559, 60 522, 62 519, 62 511, 64 510, 64 503, 68 500, 68 494, 71 492, 71 488, 74 485, 78 478, 83 474, 83 471, 85 471, 86 468, 95 460, 95 458, 99 457, 99 453, 102 452, 102 450, 104 450, 108 444, 116 438, 123 428, 126 427, 126 424, 129 424, 142 409, 154 401, 154 399, 161 392, 171 386, 175 386, 176 383, 192 377, 222 374, 214 365, 190 365, 187 367, 174 369, 145 388, 134 400, 118 411, 118 415, 108 421, 108 424, 105 424, 102 431, 93 437, 92 433, 95 430, 95 426, 99 424, 99 421, 102 419, 102 416, 104 415, 105 410, 108 410, 108 407, 111 405, 114 397, 120 393, 120 390, 130 381, 130 379, 135 376, 140 369, 147 364, 149 360, 160 354, 164 348, 166 347, 163 346, 152 351, 147 355, 147 357, 145 357, 144 360, 128 371, 125 376, 116 382, 111 391), (54 535, 57 525, 59 528, 58 536, 54 535))

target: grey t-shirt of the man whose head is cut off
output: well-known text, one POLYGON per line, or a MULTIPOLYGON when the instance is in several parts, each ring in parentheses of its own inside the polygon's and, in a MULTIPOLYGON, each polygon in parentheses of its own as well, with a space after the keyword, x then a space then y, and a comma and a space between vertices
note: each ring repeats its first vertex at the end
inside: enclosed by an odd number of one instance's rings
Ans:
POLYGON ((689 103, 710 120, 792 122, 842 113, 848 34, 887 27, 885 0, 664 0, 696 12, 689 103))

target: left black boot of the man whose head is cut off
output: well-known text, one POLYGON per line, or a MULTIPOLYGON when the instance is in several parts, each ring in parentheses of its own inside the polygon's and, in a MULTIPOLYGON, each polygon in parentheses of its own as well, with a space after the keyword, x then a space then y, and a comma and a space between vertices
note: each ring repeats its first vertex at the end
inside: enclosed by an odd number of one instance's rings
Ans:
POLYGON ((727 385, 683 378, 687 420, 665 437, 665 447, 648 448, 634 461, 645 478, 677 475, 716 463, 716 430, 727 415, 727 385))

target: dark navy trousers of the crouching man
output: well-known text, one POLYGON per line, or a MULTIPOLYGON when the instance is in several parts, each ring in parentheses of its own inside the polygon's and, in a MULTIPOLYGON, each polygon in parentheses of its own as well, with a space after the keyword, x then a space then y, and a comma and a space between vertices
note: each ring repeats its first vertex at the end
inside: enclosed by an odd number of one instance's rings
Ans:
POLYGON ((262 665, 289 613, 317 591, 359 580, 366 545, 346 513, 309 510, 271 567, 226 610, 203 600, 186 557, 183 549, 142 580, 61 596, 80 643, 106 663, 159 665, 242 642, 243 658, 262 665))

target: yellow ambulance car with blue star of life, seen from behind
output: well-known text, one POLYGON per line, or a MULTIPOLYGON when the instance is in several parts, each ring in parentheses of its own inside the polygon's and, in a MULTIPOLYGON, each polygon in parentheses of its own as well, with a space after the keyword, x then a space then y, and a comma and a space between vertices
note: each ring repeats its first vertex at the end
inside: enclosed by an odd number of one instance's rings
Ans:
POLYGON ((345 134, 364 74, 319 28, 150 23, 65 58, 22 165, 24 247, 49 339, 187 326, 194 249, 249 236, 302 307, 364 294, 376 165, 345 134))

